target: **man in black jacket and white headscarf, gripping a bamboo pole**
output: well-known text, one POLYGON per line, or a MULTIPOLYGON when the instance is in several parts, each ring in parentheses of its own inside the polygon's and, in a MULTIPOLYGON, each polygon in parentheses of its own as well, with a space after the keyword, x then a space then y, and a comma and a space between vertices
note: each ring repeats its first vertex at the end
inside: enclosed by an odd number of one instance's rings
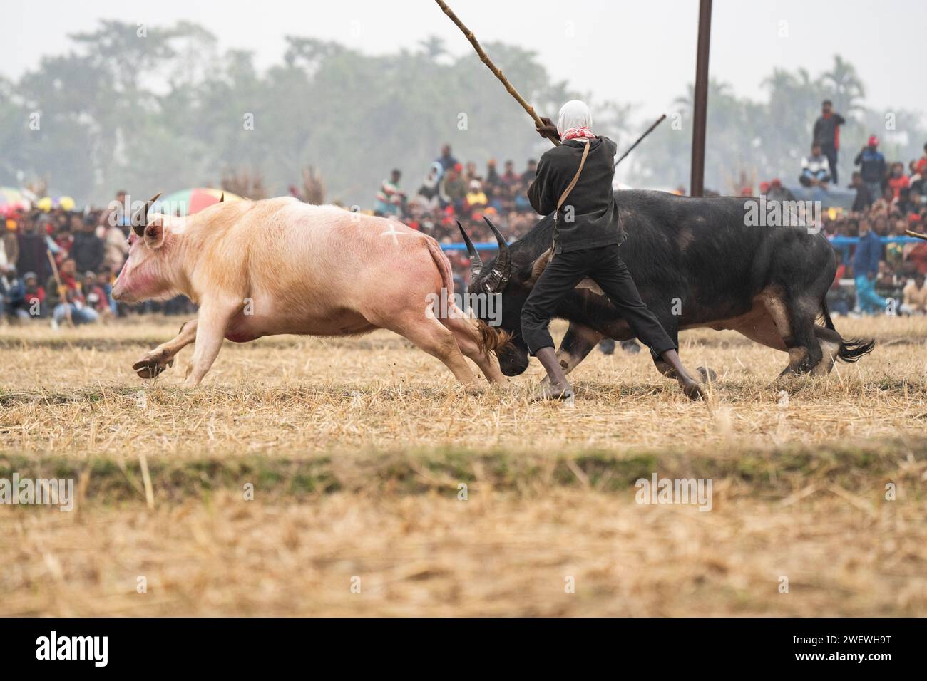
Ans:
POLYGON ((578 100, 560 109, 556 126, 550 119, 541 120, 544 126, 538 129, 540 135, 559 139, 563 144, 540 158, 538 174, 527 191, 531 207, 541 215, 556 212, 552 259, 531 289, 521 315, 528 350, 540 360, 550 379, 540 397, 573 395, 547 327, 557 302, 587 277, 601 287, 654 356, 676 370, 685 394, 693 399, 703 397, 701 387, 679 361, 676 344, 641 300, 619 254, 624 234, 612 192, 615 143, 592 133, 589 108, 578 100))

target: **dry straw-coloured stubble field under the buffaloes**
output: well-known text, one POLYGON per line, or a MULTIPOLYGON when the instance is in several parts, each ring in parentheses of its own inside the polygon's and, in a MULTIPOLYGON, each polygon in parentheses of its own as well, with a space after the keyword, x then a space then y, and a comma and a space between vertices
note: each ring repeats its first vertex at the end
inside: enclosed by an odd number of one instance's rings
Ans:
POLYGON ((784 354, 683 334, 706 403, 596 351, 572 407, 386 332, 137 378, 179 325, 0 328, 0 478, 77 484, 0 505, 0 615, 927 615, 927 320, 837 320, 875 351, 784 386, 784 354), (711 511, 636 503, 653 473, 711 511))

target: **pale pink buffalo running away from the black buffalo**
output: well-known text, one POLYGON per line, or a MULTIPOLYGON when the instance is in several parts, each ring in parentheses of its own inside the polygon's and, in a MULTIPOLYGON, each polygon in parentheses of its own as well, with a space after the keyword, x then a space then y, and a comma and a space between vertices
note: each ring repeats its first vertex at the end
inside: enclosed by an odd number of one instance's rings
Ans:
POLYGON ((311 206, 295 198, 218 203, 178 218, 133 216, 129 259, 113 286, 126 303, 178 294, 197 319, 133 365, 151 378, 196 342, 186 385, 199 385, 227 338, 364 334, 389 329, 444 362, 464 385, 476 376, 505 381, 493 356, 507 336, 466 315, 429 313, 429 300, 453 298, 451 263, 438 242, 398 221, 311 206))

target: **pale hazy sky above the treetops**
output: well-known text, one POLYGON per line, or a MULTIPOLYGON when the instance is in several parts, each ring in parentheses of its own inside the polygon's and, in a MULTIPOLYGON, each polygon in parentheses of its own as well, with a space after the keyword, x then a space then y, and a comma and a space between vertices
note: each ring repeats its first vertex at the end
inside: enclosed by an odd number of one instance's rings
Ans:
MULTIPOLYGON (((601 99, 640 104, 643 118, 667 109, 694 78, 697 0, 449 4, 480 41, 535 50, 554 78, 601 99)), ((471 49, 432 0, 9 0, 4 15, 0 72, 13 78, 44 54, 63 52, 69 32, 89 30, 99 18, 146 22, 149 31, 196 21, 222 48, 252 50, 261 67, 282 57, 287 34, 383 53, 414 48, 434 33, 454 54, 471 49)), ((759 97, 773 67, 804 66, 817 76, 840 53, 857 67, 870 106, 927 112, 925 35, 922 0, 715 0, 711 72, 737 93, 759 97)), ((486 76, 487 87, 500 87, 489 70, 486 76)))

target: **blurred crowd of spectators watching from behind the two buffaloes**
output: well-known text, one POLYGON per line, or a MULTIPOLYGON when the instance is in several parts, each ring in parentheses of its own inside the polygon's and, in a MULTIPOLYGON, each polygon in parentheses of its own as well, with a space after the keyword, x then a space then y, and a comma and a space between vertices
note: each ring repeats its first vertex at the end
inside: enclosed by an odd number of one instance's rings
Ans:
MULTIPOLYGON (((839 115, 833 124, 825 103, 815 124, 812 153, 802 161, 799 183, 826 189, 836 183, 836 145, 839 115), (823 131, 823 132, 821 132, 823 131), (822 144, 820 139, 824 135, 822 144)), ((888 162, 879 140, 854 159, 857 170, 849 187, 855 191, 849 209, 830 208, 822 215, 822 230, 837 252, 838 271, 828 295, 836 314, 927 314, 927 242, 883 241, 902 239, 906 232, 927 233, 927 145, 921 158, 888 162), (857 237, 856 244, 842 237, 857 237)), ((510 240, 525 235, 539 220, 527 201, 527 186, 534 180, 537 161, 527 160, 516 169, 504 161, 500 169, 489 160, 485 170, 461 162, 450 145, 425 171, 410 192, 401 188, 402 174, 393 170, 376 193, 375 215, 394 216, 413 229, 434 236, 443 245, 461 241, 457 221, 475 242, 493 242, 483 218, 493 221, 510 240)), ((794 200, 781 181, 759 183, 768 199, 794 200)), ((677 193, 684 193, 679 188, 677 193)), ((752 188, 743 194, 752 195, 752 188)), ((132 309, 112 299, 112 284, 128 256, 129 226, 121 215, 125 193, 118 192, 108 208, 75 209, 42 205, 14 208, 0 217, 0 323, 44 319, 53 325, 90 323, 112 317, 151 311, 186 314, 192 304, 183 296, 167 302, 149 302, 132 309)), ((464 249, 449 250, 457 285, 468 276, 464 249)))

